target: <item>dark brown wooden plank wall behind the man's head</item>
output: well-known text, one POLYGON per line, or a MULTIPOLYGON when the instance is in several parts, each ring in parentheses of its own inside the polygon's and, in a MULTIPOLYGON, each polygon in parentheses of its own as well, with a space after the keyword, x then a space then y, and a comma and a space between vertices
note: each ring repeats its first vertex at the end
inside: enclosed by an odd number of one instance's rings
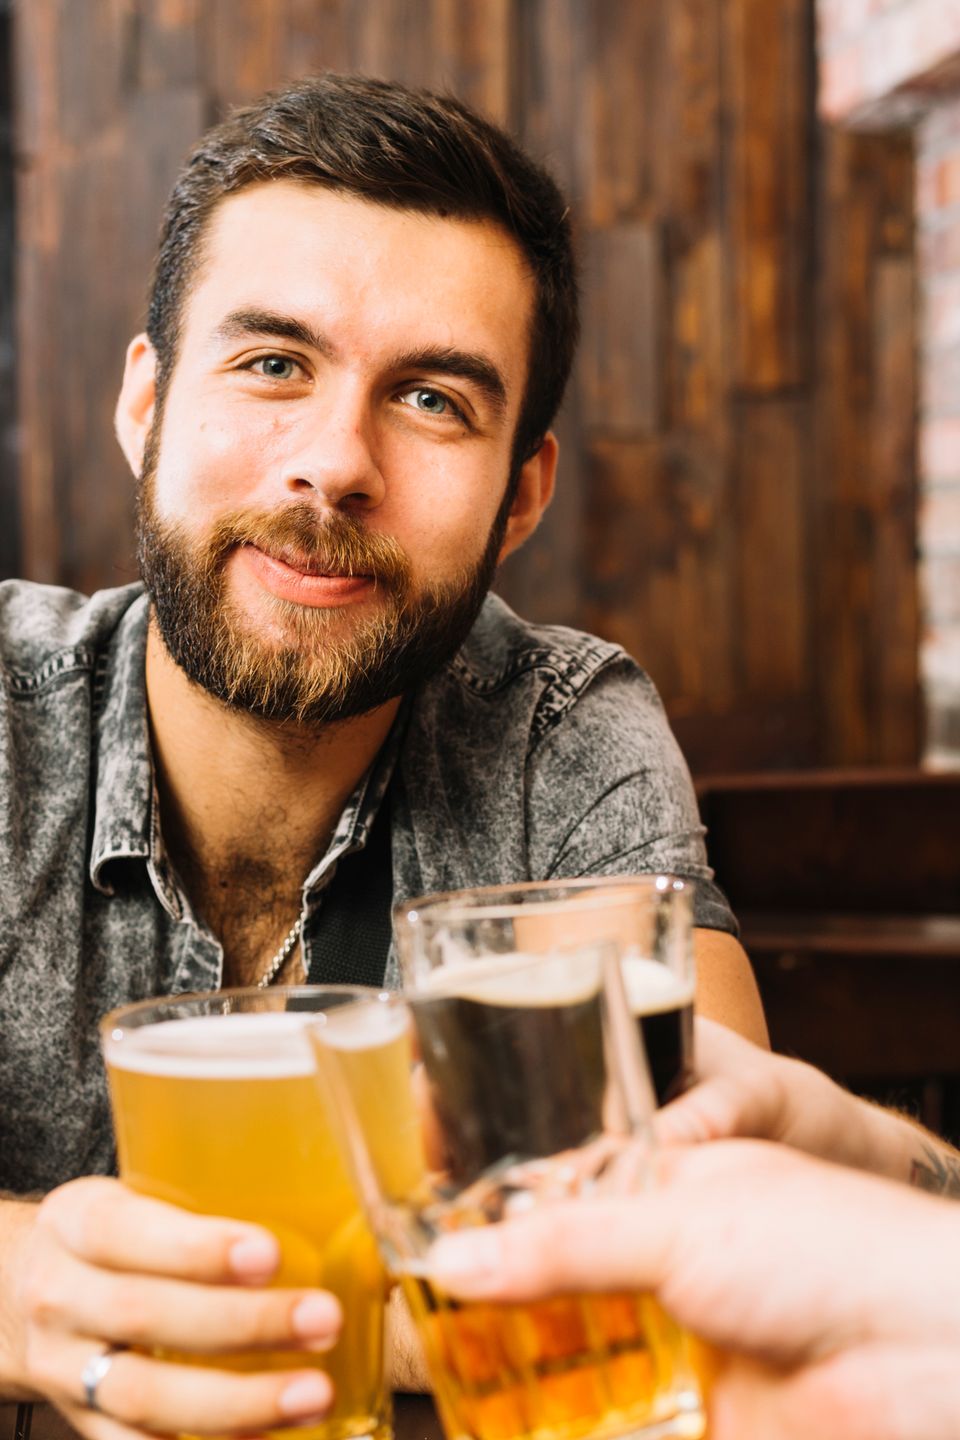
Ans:
POLYGON ((918 757, 911 153, 818 130, 810 0, 19 0, 16 22, 4 564, 135 573, 111 412, 203 125, 322 66, 449 86, 548 160, 586 268, 558 497, 501 590, 636 654, 699 773, 918 757))

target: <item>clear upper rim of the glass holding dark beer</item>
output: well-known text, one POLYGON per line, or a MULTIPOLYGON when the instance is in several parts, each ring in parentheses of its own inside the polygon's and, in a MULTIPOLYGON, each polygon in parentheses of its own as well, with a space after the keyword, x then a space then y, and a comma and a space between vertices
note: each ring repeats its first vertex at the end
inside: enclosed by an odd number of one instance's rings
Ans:
POLYGON ((623 903, 625 893, 633 890, 646 894, 692 894, 694 881, 668 873, 638 876, 574 876, 566 880, 518 880, 497 886, 475 886, 469 890, 443 890, 435 894, 416 896, 393 906, 393 916, 407 924, 416 924, 420 917, 433 919, 456 913, 458 920, 507 920, 517 914, 543 914, 556 906, 556 900, 525 899, 504 900, 497 896, 527 896, 535 891, 560 890, 577 893, 603 890, 604 894, 584 897, 584 910, 607 910, 623 903))

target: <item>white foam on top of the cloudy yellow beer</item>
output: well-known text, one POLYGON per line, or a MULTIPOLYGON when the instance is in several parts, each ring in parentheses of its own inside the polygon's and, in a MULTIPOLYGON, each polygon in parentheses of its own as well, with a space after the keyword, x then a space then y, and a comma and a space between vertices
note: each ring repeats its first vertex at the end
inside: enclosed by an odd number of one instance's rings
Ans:
POLYGON ((118 1030, 104 1045, 115 1070, 170 1080, 289 1080, 314 1074, 304 1025, 315 1017, 298 1011, 258 1015, 191 1015, 118 1030))

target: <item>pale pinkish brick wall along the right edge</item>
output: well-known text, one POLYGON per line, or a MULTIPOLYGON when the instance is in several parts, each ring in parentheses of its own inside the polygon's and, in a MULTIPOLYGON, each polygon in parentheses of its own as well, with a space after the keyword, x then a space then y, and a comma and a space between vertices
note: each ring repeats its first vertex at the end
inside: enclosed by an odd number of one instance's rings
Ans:
POLYGON ((818 0, 819 98, 917 148, 925 759, 960 765, 960 0, 818 0))

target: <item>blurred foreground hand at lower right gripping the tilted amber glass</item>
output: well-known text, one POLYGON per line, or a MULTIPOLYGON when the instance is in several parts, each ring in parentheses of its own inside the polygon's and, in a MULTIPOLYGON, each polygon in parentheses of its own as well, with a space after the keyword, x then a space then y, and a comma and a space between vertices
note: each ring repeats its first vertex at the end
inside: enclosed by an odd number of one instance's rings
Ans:
POLYGON ((655 1293, 730 1355, 711 1440, 956 1440, 956 1207, 756 1142, 661 1159, 653 1192, 438 1241, 436 1283, 507 1302, 655 1293))

